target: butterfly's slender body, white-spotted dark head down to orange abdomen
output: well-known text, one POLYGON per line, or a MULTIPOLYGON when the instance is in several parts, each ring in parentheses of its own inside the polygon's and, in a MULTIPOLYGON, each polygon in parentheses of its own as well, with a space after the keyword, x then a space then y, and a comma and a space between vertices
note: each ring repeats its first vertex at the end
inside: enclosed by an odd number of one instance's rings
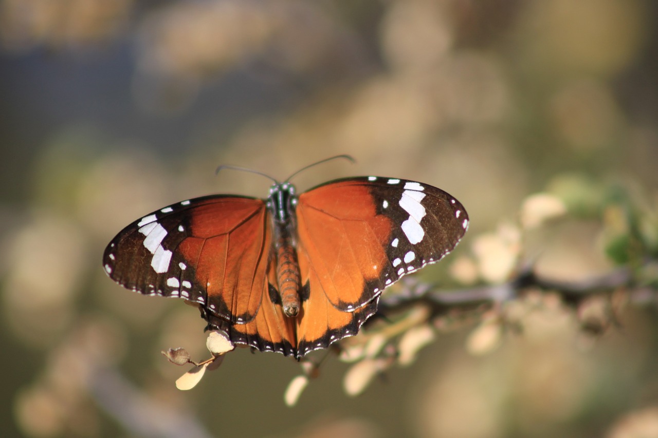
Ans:
POLYGON ((272 214, 274 254, 276 254, 276 280, 281 304, 286 316, 299 313, 300 274, 295 253, 295 187, 290 183, 276 183, 270 188, 267 207, 272 214))

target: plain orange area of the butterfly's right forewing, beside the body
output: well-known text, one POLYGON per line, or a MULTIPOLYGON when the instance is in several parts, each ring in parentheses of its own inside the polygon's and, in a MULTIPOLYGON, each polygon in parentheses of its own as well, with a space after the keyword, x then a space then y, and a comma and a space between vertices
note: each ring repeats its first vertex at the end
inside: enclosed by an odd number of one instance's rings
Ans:
POLYGON ((382 266, 389 263, 382 242, 389 241, 391 230, 390 220, 376 213, 365 185, 335 183, 302 193, 297 204, 297 254, 301 272, 312 271, 307 277, 317 278, 311 291, 324 291, 343 312, 372 301, 384 287, 374 291, 367 282, 378 280, 382 266))

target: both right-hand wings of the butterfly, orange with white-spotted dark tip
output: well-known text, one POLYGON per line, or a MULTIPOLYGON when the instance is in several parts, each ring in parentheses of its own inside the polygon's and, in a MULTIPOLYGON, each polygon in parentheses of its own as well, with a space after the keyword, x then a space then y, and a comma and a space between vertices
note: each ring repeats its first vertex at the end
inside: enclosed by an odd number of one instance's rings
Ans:
POLYGON ((454 197, 395 178, 320 185, 299 195, 296 212, 299 268, 310 291, 302 308, 313 314, 299 320, 302 350, 357 333, 386 287, 438 262, 468 227, 454 197))

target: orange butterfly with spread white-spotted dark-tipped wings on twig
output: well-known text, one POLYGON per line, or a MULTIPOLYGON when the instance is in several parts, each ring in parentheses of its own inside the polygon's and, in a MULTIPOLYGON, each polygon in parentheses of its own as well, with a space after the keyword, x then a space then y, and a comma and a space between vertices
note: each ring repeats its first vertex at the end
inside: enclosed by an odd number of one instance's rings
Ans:
POLYGON ((468 228, 463 205, 425 183, 364 176, 297 195, 288 180, 266 199, 210 195, 146 214, 109 243, 105 272, 194 304, 233 343, 299 359, 356 335, 386 287, 468 228))

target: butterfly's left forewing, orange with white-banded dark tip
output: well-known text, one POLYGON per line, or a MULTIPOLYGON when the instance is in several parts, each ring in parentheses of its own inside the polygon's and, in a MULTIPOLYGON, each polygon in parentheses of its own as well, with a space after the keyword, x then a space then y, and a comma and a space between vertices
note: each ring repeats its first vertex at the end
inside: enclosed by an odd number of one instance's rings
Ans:
POLYGON ((114 281, 179 297, 231 324, 254 320, 267 287, 271 233, 261 199, 208 196, 176 203, 124 228, 105 249, 114 281))

